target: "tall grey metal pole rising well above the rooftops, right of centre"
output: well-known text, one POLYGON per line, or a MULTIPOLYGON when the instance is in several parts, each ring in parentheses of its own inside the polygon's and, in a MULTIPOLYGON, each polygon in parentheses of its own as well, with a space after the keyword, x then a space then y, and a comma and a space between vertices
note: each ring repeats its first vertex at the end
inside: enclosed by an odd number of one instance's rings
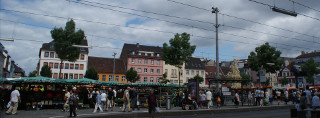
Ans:
MULTIPOLYGON (((214 27, 216 27, 216 79, 219 79, 219 40, 218 40, 218 28, 219 28, 219 24, 218 24, 218 13, 219 13, 219 9, 216 7, 212 7, 212 13, 216 14, 216 24, 214 25, 214 27)), ((216 83, 216 91, 219 91, 219 86, 220 83, 217 82, 216 83)))

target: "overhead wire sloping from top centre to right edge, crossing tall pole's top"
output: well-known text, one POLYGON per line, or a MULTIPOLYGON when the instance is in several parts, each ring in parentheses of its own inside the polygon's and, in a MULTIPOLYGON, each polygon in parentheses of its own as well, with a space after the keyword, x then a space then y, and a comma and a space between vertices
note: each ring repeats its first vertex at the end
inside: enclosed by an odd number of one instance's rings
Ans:
MULTIPOLYGON (((197 6, 194 6, 194 5, 182 3, 182 2, 177 2, 177 1, 174 1, 174 0, 167 0, 167 1, 172 2, 172 3, 176 3, 176 4, 180 4, 180 5, 184 5, 184 6, 188 6, 188 7, 192 7, 192 8, 196 8, 196 9, 200 9, 200 10, 203 10, 203 11, 211 12, 211 9, 205 9, 205 8, 197 7, 197 6)), ((309 37, 313 37, 313 38, 319 38, 319 37, 316 37, 316 36, 313 36, 313 35, 304 34, 304 33, 296 32, 296 31, 293 31, 293 30, 289 30, 289 29, 285 29, 285 28, 281 28, 281 27, 277 27, 277 26, 272 26, 272 25, 268 25, 268 24, 265 24, 265 23, 261 23, 261 22, 257 22, 257 21, 253 21, 253 20, 249 20, 249 19, 245 19, 245 18, 241 18, 241 17, 237 17, 237 16, 221 13, 221 12, 219 12, 219 14, 225 15, 225 16, 228 16, 228 17, 231 17, 231 18, 243 20, 243 21, 246 21, 246 22, 251 22, 251 23, 255 23, 255 24, 259 24, 259 25, 263 25, 263 26, 279 29, 279 30, 282 30, 282 31, 296 33, 296 34, 309 36, 309 37)))

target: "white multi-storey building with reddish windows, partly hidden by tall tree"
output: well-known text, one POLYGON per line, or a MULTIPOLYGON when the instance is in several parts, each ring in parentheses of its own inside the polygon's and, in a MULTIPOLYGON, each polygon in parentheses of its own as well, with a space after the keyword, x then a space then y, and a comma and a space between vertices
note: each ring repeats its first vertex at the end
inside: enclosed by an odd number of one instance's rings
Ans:
MULTIPOLYGON (((88 46, 88 41, 84 39, 81 45, 88 46)), ((63 61, 58 58, 57 53, 54 51, 53 42, 44 43, 40 48, 39 53, 39 63, 38 63, 38 75, 40 75, 40 71, 42 66, 49 65, 52 70, 52 78, 58 78, 60 68, 61 75, 60 78, 63 79, 79 79, 83 78, 88 64, 88 53, 89 50, 87 48, 79 48, 80 55, 79 59, 75 62, 63 61), (60 65, 60 66, 59 66, 60 65)))

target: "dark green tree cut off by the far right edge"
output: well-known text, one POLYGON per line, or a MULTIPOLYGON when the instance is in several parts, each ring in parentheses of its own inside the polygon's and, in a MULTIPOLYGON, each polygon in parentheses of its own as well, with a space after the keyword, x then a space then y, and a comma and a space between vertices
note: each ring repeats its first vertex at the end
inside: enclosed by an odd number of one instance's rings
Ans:
POLYGON ((313 83, 314 85, 314 78, 313 76, 315 74, 320 73, 320 69, 318 69, 319 64, 314 62, 313 58, 308 59, 308 61, 302 65, 302 72, 306 75, 307 77, 307 82, 308 83, 313 83))

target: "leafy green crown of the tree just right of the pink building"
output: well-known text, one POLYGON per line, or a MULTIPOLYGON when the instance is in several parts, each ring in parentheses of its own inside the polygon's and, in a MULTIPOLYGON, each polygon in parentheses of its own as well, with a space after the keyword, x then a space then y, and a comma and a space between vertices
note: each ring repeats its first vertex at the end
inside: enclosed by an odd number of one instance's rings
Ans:
POLYGON ((174 38, 169 40, 170 46, 163 43, 162 59, 166 64, 181 68, 184 62, 188 61, 188 57, 192 56, 195 45, 190 45, 190 35, 188 33, 175 34, 174 38))

